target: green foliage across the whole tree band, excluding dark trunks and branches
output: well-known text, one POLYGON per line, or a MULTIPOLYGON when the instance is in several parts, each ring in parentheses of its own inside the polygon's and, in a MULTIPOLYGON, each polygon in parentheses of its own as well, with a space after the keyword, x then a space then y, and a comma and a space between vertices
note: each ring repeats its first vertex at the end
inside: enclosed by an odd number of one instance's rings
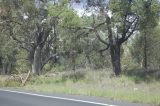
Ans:
MULTIPOLYGON (((100 12, 100 16, 97 16, 95 20, 93 17, 88 16, 79 17, 76 11, 69 8, 69 2, 69 0, 61 0, 58 3, 51 4, 47 0, 43 0, 38 5, 33 0, 2 0, 0 4, 1 9, 3 9, 1 16, 6 18, 6 20, 3 20, 0 26, 1 61, 3 63, 15 62, 13 63, 15 67, 13 69, 26 72, 31 68, 32 62, 27 60, 31 51, 22 50, 21 48, 25 46, 27 49, 33 49, 39 43, 35 40, 36 35, 41 33, 42 30, 44 32, 50 30, 49 37, 42 49, 42 60, 46 60, 54 52, 60 55, 56 65, 53 65, 54 59, 51 59, 45 66, 45 71, 52 70, 54 66, 60 67, 60 69, 71 69, 69 67, 74 65, 76 68, 110 68, 109 51, 100 53, 100 50, 104 49, 106 45, 99 42, 95 34, 90 30, 86 30, 85 28, 79 29, 84 26, 93 26, 93 21, 95 21, 95 24, 105 21, 104 14, 100 12), (15 40, 11 36, 16 37, 20 41, 15 40), (73 56, 73 52, 75 52, 75 56, 73 56)), ((152 0, 151 6, 148 9, 145 5, 144 0, 132 0, 132 3, 129 3, 128 0, 109 1, 107 9, 113 15, 111 21, 112 29, 115 29, 113 30, 114 43, 116 42, 116 38, 122 37, 125 24, 126 27, 130 25, 126 15, 132 16, 132 18, 134 15, 138 15, 139 20, 136 33, 140 32, 140 34, 135 35, 134 40, 131 40, 133 42, 130 47, 132 57, 127 53, 129 47, 121 49, 121 52, 123 52, 121 53, 122 67, 126 65, 132 67, 136 63, 140 64, 142 62, 144 43, 142 35, 145 32, 150 34, 147 38, 149 41, 147 48, 150 66, 158 67, 160 59, 159 52, 157 51, 159 50, 159 46, 157 45, 159 43, 154 43, 159 41, 159 28, 154 29, 154 27, 158 24, 160 5, 157 0, 152 0), (156 45, 156 47, 154 46, 153 48, 152 45, 156 45), (131 61, 127 59, 128 56, 131 61)), ((100 37, 108 41, 106 25, 102 25, 97 30, 100 37)), ((44 38, 42 39, 44 40, 44 38)))

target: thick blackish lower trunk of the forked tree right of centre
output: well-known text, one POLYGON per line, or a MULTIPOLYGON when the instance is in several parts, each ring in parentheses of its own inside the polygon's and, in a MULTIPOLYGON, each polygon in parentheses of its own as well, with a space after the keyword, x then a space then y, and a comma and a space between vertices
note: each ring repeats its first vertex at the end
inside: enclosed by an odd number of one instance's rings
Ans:
POLYGON ((113 71, 116 76, 121 74, 121 59, 120 59, 120 45, 113 45, 110 47, 110 55, 113 71))

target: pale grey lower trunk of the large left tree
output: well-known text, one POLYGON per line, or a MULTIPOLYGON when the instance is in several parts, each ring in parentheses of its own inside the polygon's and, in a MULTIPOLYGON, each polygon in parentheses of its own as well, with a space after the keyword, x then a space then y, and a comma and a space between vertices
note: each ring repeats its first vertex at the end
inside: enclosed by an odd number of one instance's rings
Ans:
POLYGON ((34 53, 34 60, 33 60, 33 64, 32 64, 32 73, 36 74, 36 75, 40 75, 42 72, 41 67, 41 50, 42 48, 40 46, 38 46, 35 49, 35 53, 34 53))

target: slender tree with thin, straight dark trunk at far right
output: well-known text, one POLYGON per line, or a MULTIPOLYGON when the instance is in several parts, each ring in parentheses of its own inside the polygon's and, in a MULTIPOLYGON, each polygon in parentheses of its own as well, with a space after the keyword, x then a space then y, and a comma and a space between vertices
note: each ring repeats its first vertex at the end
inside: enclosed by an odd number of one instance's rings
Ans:
POLYGON ((159 11, 160 11, 160 2, 157 0, 145 0, 143 1, 143 7, 141 11, 141 23, 140 23, 140 32, 143 34, 143 67, 146 71, 148 69, 148 60, 147 60, 147 45, 150 42, 149 38, 153 29, 158 25, 159 11))

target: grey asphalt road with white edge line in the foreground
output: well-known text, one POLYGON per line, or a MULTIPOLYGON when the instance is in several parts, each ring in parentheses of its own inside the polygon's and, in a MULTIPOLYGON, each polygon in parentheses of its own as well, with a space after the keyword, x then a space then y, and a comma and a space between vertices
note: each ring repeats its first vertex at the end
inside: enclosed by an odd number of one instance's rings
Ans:
POLYGON ((0 89, 0 106, 146 106, 100 98, 0 89))

